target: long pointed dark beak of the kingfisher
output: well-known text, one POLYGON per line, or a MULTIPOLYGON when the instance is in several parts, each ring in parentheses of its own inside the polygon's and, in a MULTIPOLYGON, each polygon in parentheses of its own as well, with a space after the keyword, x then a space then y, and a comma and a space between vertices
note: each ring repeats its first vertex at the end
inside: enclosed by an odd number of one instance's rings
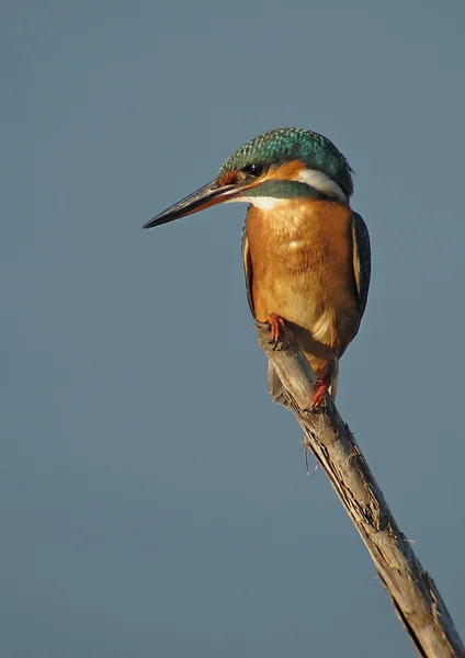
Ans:
POLYGON ((216 180, 214 180, 193 194, 190 194, 185 198, 182 198, 174 205, 170 206, 157 215, 157 217, 150 219, 150 222, 147 222, 143 228, 161 226, 162 224, 168 224, 168 222, 174 222, 174 219, 179 219, 180 217, 199 213, 199 211, 204 211, 205 208, 209 208, 218 203, 228 201, 240 192, 241 188, 238 188, 237 184, 218 185, 216 180))

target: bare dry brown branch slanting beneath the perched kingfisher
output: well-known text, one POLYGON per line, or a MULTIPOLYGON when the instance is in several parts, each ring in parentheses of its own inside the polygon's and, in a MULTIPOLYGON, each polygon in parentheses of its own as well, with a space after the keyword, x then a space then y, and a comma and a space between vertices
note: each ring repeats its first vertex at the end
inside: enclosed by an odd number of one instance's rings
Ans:
POLYGON ((305 444, 352 519, 418 653, 423 658, 464 658, 464 646, 445 603, 394 520, 349 426, 329 396, 317 410, 305 410, 316 376, 291 331, 285 329, 283 342, 275 347, 268 325, 258 324, 257 329, 305 432, 305 444))

